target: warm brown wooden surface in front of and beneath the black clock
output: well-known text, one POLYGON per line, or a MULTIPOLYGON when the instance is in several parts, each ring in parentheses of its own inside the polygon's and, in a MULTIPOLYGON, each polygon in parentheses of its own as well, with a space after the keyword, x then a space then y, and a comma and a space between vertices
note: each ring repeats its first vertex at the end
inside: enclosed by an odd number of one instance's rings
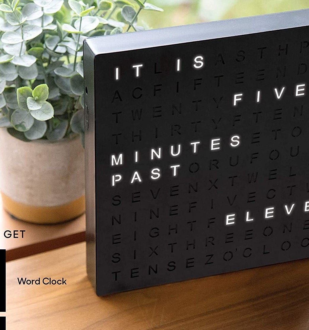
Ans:
POLYGON ((85 252, 79 243, 7 262, 7 329, 309 329, 309 259, 97 297, 85 252))

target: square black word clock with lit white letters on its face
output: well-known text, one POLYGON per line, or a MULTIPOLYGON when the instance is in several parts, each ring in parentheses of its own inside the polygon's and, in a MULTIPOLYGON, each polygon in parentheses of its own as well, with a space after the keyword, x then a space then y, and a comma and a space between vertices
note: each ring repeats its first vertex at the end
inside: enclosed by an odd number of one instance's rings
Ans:
POLYGON ((309 257, 308 17, 86 39, 98 295, 309 257))

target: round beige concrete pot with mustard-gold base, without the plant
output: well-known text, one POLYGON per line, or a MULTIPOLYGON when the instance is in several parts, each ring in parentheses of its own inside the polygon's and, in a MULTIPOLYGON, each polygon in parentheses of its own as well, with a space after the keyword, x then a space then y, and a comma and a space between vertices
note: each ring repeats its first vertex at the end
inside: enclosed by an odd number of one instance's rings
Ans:
POLYGON ((84 149, 80 138, 24 142, 0 128, 0 190, 18 219, 58 223, 85 212, 84 149))

